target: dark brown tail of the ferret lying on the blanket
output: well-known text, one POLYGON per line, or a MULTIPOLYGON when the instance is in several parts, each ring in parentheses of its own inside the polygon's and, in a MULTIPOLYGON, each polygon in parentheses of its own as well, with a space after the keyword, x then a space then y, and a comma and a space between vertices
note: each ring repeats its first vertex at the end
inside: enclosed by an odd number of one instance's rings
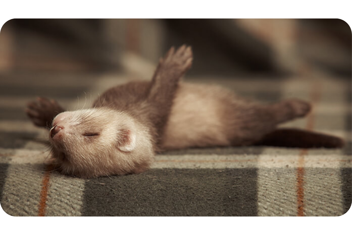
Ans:
POLYGON ((291 148, 342 148, 345 142, 339 137, 318 132, 279 128, 264 136, 256 145, 291 148))

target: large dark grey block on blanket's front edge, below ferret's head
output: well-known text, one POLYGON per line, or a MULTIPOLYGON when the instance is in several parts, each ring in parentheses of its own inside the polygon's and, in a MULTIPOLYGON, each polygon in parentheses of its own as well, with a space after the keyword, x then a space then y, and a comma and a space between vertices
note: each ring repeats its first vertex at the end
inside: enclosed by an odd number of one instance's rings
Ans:
POLYGON ((82 216, 257 216, 257 169, 152 169, 91 179, 82 216))

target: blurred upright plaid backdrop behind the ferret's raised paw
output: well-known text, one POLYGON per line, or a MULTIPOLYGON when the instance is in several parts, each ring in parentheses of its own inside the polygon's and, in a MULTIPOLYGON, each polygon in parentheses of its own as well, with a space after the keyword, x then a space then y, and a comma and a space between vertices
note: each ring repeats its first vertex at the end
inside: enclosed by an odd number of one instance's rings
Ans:
POLYGON ((122 72, 150 77, 172 46, 194 50, 195 76, 284 77, 307 66, 352 74, 352 33, 341 19, 11 19, 0 72, 122 72))

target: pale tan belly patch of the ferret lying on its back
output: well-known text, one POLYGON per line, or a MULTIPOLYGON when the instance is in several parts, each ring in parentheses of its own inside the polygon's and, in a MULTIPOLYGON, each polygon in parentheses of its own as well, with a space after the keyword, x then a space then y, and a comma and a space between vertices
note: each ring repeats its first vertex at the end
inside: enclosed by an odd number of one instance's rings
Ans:
POLYGON ((176 93, 162 138, 163 149, 228 146, 224 118, 227 89, 182 83, 176 93))

